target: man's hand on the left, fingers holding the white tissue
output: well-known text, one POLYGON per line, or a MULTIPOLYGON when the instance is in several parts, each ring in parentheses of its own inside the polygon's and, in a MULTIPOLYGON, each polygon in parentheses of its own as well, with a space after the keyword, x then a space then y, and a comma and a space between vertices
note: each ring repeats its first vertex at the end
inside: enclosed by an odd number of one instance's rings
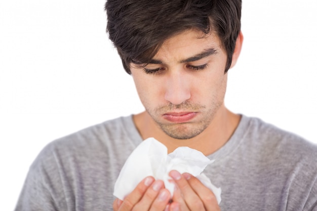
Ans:
POLYGON ((164 182, 146 177, 137 187, 122 201, 113 201, 114 211, 150 210, 163 211, 171 198, 170 192, 164 188, 164 182))

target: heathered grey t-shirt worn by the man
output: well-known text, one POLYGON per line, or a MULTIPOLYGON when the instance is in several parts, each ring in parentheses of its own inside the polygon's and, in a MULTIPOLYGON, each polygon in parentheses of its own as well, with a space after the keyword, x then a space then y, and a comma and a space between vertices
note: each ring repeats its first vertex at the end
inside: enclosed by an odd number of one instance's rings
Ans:
MULTIPOLYGON (((113 186, 140 144, 132 116, 109 120, 46 146, 30 166, 17 210, 112 210, 113 186)), ((208 156, 205 174, 222 189, 222 211, 317 211, 317 146, 242 116, 208 156)))

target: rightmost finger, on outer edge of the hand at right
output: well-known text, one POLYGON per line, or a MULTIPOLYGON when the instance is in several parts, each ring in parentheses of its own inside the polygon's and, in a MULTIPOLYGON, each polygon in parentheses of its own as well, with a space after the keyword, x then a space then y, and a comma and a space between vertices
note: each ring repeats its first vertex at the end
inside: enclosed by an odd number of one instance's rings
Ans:
POLYGON ((184 173, 183 177, 187 180, 188 184, 192 187, 195 193, 201 198, 208 211, 220 210, 215 194, 199 179, 188 173, 184 173))

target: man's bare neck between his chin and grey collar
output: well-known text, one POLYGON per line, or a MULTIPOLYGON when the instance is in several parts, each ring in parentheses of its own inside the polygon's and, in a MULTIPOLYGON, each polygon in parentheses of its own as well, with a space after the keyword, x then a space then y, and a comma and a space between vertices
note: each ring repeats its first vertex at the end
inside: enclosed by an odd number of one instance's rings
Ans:
POLYGON ((168 148, 168 153, 177 147, 187 146, 199 150, 205 155, 212 154, 225 145, 239 124, 240 118, 240 115, 230 112, 223 105, 201 134, 191 139, 179 140, 166 135, 146 111, 133 116, 143 140, 150 137, 155 138, 168 148))

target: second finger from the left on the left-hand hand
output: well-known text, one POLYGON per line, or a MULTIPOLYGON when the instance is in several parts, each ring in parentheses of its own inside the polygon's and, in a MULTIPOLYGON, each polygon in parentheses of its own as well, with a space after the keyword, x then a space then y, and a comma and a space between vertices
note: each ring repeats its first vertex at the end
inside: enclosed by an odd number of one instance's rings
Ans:
MULTIPOLYGON (((149 210, 153 201, 159 195, 160 190, 164 187, 164 182, 162 180, 156 180, 144 193, 142 199, 134 206, 133 210, 149 210)), ((166 204, 161 209, 164 210, 166 204)))

